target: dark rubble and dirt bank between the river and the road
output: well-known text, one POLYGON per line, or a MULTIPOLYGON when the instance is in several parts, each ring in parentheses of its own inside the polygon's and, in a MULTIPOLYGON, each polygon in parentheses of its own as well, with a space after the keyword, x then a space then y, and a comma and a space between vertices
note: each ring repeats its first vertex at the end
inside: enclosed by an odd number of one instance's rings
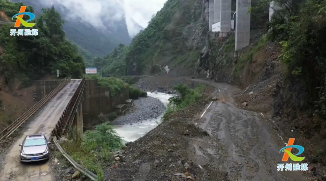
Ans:
MULTIPOLYGON (((200 102, 207 104, 209 100, 209 96, 204 96, 200 102)), ((204 107, 197 103, 170 115, 146 136, 127 144, 112 157, 119 157, 120 161, 108 165, 105 180, 227 180, 227 173, 209 164, 196 165, 189 154, 191 139, 208 136, 187 123, 204 107)))

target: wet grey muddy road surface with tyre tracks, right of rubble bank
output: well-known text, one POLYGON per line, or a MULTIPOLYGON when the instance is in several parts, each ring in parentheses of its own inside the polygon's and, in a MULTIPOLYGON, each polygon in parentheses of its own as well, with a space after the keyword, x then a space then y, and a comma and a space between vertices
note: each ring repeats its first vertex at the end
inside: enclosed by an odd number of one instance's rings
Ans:
POLYGON ((215 86, 219 97, 201 119, 197 115, 191 122, 210 135, 191 141, 188 153, 196 164, 214 164, 228 172, 230 180, 306 180, 303 171, 277 171, 277 163, 284 163, 279 149, 286 138, 271 129, 266 116, 236 108, 230 85, 195 81, 215 86))

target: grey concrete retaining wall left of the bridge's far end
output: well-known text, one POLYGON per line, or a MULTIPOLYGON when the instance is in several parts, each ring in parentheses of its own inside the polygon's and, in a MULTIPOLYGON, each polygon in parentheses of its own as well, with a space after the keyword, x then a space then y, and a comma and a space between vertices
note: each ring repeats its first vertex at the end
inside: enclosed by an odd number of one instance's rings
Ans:
POLYGON ((35 82, 37 100, 41 100, 65 80, 40 80, 35 82))

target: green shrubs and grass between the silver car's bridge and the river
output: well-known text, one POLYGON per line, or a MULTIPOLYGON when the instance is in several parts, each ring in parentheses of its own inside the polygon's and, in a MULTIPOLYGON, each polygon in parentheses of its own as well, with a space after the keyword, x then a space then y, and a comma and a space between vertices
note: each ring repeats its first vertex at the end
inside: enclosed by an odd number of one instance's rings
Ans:
POLYGON ((103 180, 103 170, 108 162, 112 162, 111 151, 121 149, 121 138, 116 135, 112 126, 106 122, 96 126, 95 131, 86 131, 86 135, 79 139, 70 130, 69 139, 61 144, 62 148, 83 167, 97 174, 98 180, 103 180))

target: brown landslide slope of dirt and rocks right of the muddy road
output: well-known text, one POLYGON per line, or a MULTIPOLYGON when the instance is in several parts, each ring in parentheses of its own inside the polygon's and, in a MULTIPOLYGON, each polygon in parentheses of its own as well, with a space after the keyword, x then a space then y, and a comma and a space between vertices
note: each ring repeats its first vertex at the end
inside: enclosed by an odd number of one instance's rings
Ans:
POLYGON ((309 108, 300 82, 287 79, 279 54, 280 47, 273 43, 254 54, 237 82, 243 90, 234 95, 235 101, 238 107, 264 113, 286 137, 294 137, 305 148, 309 162, 322 173, 326 158, 325 120, 309 108))

